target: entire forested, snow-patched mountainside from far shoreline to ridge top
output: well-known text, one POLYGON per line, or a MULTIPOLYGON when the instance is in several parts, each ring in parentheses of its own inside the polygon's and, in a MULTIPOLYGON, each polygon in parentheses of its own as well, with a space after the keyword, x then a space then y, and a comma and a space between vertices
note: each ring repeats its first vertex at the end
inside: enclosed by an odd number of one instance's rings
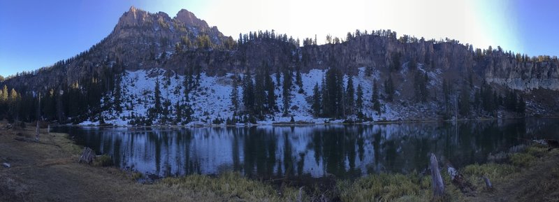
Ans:
POLYGON ((82 124, 559 115, 556 57, 528 57, 491 47, 474 50, 449 39, 397 37, 390 30, 357 30, 324 45, 305 39, 300 46, 299 39, 274 31, 251 32, 233 40, 184 9, 171 18, 131 7, 111 34, 89 50, 11 76, 0 85, 6 86, 0 91, 0 97, 6 96, 0 100, 0 115, 26 121, 37 117, 38 94, 43 95, 43 119, 82 124), (330 80, 329 71, 333 72, 330 80), (267 82, 264 87, 264 78, 259 82, 257 76, 263 73, 273 85, 267 82), (254 78, 250 82, 257 92, 251 95, 259 106, 244 102, 247 75, 254 78), (333 85, 327 87, 330 81, 333 85), (235 82, 240 103, 236 108, 231 99, 235 82), (375 98, 373 82, 377 83, 375 98), (328 97, 321 94, 321 108, 316 109, 315 85, 321 93, 335 91, 328 97), (359 85, 361 107, 356 105, 359 85), (332 107, 335 114, 329 111, 332 107))

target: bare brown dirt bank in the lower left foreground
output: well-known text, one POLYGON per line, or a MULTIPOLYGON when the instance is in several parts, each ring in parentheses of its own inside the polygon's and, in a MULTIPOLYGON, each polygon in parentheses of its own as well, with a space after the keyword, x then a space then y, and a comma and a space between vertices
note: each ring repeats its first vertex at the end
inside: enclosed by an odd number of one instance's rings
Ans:
MULTIPOLYGON (((0 124, 0 127, 3 124, 0 124)), ((0 129, 0 201, 223 201, 164 185, 140 185, 117 168, 78 164, 77 146, 64 134, 0 129)))

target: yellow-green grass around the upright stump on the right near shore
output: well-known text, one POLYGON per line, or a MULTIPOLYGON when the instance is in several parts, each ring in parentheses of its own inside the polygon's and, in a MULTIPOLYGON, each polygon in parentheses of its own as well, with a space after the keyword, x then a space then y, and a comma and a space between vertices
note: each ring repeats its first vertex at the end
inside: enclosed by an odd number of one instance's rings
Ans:
MULTIPOLYGON (((518 178, 523 168, 532 166, 535 160, 543 157, 546 152, 546 147, 530 145, 524 152, 511 154, 510 164, 472 164, 460 169, 460 173, 477 190, 474 192, 488 192, 482 177, 491 179, 494 185, 510 182, 518 178)), ((470 195, 460 192, 451 182, 447 172, 442 172, 442 176, 446 194, 440 199, 433 198, 430 175, 419 173, 373 174, 354 182, 337 182, 337 189, 340 191, 341 201, 467 201, 470 195)))

